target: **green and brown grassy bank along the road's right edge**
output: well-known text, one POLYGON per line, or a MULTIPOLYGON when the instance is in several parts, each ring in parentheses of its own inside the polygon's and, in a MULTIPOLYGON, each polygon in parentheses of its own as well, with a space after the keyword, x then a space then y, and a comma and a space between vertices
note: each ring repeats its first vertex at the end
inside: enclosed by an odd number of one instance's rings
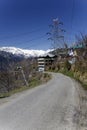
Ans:
MULTIPOLYGON (((86 62, 86 61, 85 61, 86 62)), ((82 84, 82 87, 87 90, 87 63, 83 67, 83 63, 75 63, 71 65, 68 60, 58 65, 53 66, 49 71, 63 73, 71 78, 76 79, 82 84)))

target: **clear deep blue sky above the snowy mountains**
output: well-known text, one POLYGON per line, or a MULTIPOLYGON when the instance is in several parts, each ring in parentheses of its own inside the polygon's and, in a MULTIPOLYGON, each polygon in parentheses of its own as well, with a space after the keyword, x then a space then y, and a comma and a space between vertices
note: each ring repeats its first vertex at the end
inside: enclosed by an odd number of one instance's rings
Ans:
POLYGON ((51 48, 46 33, 54 18, 64 23, 71 44, 87 33, 87 0, 0 0, 0 47, 51 48))

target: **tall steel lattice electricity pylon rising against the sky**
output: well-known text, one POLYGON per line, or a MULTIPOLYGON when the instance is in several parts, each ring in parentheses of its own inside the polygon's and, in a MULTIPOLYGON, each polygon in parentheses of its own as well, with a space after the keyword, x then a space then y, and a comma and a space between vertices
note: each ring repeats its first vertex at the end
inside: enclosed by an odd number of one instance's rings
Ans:
POLYGON ((51 25, 49 25, 49 27, 51 28, 50 32, 48 32, 48 40, 52 40, 53 41, 53 47, 54 50, 58 49, 58 48, 63 48, 64 45, 64 36, 63 36, 63 32, 65 32, 64 29, 62 29, 60 27, 60 25, 63 25, 62 22, 60 22, 58 20, 58 18, 53 19, 53 23, 51 25))

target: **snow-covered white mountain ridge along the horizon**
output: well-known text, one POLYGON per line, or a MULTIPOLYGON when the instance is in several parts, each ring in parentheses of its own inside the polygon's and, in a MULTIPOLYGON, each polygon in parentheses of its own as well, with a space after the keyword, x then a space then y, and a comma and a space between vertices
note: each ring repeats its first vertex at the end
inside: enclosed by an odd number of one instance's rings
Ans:
POLYGON ((27 50, 27 49, 20 49, 20 48, 16 48, 16 47, 0 47, 0 51, 5 51, 5 52, 9 52, 12 53, 14 55, 23 55, 24 57, 38 57, 38 56, 43 56, 47 53, 49 53, 52 50, 27 50))

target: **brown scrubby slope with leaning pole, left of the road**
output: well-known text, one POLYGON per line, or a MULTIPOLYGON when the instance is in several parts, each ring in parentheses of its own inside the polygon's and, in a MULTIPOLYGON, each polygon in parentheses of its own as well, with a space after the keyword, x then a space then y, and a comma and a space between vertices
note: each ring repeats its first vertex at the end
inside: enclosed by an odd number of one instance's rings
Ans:
POLYGON ((9 64, 9 68, 0 71, 0 98, 36 87, 51 79, 51 75, 37 71, 36 59, 9 64))

